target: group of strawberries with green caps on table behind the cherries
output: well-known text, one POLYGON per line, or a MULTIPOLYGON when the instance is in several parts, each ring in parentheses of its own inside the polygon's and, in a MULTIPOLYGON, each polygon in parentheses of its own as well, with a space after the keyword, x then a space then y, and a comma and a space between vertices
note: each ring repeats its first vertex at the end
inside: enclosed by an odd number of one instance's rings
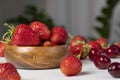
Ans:
POLYGON ((83 60, 88 56, 91 48, 97 48, 103 52, 107 45, 108 42, 105 38, 87 41, 85 37, 76 35, 70 41, 69 52, 71 55, 80 56, 80 60, 83 60))

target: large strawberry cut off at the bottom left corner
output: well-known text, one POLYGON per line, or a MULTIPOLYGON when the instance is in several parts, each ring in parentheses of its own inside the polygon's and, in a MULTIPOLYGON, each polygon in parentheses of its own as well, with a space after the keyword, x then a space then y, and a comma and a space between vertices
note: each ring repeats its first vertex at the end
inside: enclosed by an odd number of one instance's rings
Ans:
POLYGON ((0 64, 0 80, 21 80, 17 69, 11 63, 0 64))

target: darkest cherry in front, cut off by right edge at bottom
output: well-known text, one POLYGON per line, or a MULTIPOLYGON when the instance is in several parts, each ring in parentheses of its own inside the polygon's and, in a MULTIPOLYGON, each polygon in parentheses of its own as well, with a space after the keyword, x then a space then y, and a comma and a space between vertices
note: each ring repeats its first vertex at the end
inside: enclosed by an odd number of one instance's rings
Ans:
POLYGON ((120 63, 113 62, 108 67, 108 72, 116 78, 120 78, 120 63))

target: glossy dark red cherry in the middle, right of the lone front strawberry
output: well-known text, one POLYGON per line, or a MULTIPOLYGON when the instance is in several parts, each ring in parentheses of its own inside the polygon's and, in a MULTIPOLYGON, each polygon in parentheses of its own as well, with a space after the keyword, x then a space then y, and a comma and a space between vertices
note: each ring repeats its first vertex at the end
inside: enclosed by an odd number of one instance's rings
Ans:
POLYGON ((94 58, 94 64, 99 69, 107 69, 111 60, 106 55, 100 55, 98 58, 94 58))

